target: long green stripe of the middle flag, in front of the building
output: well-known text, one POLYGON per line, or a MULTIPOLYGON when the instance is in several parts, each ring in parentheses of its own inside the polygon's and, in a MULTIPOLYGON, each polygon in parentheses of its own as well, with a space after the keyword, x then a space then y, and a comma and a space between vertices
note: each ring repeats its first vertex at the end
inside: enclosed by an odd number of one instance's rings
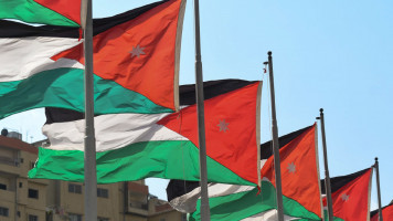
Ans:
MULTIPOLYGON (((252 185, 208 157, 209 180, 252 185)), ((84 152, 40 148, 30 178, 83 182, 84 152)), ((199 150, 191 141, 146 141, 97 152, 98 183, 140 180, 148 177, 199 180, 199 150)))

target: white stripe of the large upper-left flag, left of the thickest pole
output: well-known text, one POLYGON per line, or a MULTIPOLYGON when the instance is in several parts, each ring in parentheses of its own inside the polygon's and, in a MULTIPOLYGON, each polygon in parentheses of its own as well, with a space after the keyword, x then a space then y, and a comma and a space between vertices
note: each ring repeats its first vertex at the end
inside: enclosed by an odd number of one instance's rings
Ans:
POLYGON ((51 60, 51 56, 81 42, 77 39, 50 36, 0 39, 0 82, 21 81, 57 67, 83 69, 76 61, 51 60))

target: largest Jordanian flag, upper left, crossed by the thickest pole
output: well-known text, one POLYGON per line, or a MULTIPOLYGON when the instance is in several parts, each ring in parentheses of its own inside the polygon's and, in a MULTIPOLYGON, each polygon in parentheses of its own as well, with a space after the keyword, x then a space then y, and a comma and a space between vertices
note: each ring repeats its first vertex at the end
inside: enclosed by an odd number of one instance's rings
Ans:
MULTIPOLYGON (((183 11, 172 0, 94 20, 96 114, 178 109, 183 11)), ((38 107, 84 112, 78 35, 77 28, 0 21, 0 118, 38 107)))

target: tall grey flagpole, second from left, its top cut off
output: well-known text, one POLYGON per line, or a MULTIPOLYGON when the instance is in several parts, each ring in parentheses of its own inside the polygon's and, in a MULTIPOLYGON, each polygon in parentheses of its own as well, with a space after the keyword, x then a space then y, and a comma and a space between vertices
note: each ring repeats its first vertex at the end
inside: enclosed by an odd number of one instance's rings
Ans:
POLYGON ((194 0, 195 15, 195 90, 197 90, 197 112, 198 112, 198 135, 199 135, 199 164, 201 185, 201 220, 210 220, 210 207, 208 194, 208 164, 206 164, 206 140, 204 131, 204 97, 203 97, 203 75, 201 59, 201 34, 199 19, 199 0, 194 0))

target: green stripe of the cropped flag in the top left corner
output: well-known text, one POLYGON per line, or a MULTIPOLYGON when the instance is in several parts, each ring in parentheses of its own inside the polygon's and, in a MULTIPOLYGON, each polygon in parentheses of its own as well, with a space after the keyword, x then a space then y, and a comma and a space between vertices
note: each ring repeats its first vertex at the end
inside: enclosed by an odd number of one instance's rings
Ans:
POLYGON ((28 23, 79 27, 76 22, 33 0, 0 0, 0 19, 17 19, 28 23))

